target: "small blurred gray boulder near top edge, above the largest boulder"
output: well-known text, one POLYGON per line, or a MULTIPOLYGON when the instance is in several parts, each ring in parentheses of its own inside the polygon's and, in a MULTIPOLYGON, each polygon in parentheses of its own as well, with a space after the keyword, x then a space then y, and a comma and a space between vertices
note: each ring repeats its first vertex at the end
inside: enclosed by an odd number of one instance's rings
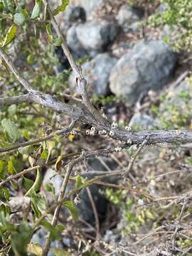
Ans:
POLYGON ((122 26, 124 32, 137 31, 139 29, 139 21, 141 21, 142 16, 142 10, 132 8, 128 6, 128 4, 124 4, 119 9, 117 21, 119 26, 122 26))

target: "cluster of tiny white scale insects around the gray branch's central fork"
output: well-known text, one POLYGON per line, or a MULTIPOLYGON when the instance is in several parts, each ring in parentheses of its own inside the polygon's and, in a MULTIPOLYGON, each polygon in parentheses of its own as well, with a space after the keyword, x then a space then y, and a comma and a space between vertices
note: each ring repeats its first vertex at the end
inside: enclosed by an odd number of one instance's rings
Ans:
MULTIPOLYGON (((118 124, 117 122, 112 122, 111 124, 111 129, 110 132, 107 132, 106 129, 102 129, 102 130, 97 130, 95 127, 91 127, 91 129, 87 129, 85 134, 86 135, 90 135, 90 136, 95 136, 96 134, 103 136, 103 137, 114 137, 114 129, 118 128, 118 124)), ((126 129, 128 132, 132 131, 132 128, 129 126, 124 127, 124 129, 126 129)), ((71 131, 70 134, 77 134, 77 131, 71 131)), ((123 142, 123 141, 119 141, 119 144, 128 144, 131 145, 132 144, 132 140, 131 139, 127 139, 127 142, 123 142)), ((122 146, 115 146, 114 148, 115 151, 120 152, 122 151, 122 146)))

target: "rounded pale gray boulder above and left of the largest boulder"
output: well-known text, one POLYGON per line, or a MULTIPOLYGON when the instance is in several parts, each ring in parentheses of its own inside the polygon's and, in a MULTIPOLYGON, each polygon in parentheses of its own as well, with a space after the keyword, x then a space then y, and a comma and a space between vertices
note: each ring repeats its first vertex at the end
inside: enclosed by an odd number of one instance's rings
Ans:
POLYGON ((107 49, 118 33, 118 26, 112 21, 94 20, 80 24, 77 36, 86 50, 102 52, 107 49))

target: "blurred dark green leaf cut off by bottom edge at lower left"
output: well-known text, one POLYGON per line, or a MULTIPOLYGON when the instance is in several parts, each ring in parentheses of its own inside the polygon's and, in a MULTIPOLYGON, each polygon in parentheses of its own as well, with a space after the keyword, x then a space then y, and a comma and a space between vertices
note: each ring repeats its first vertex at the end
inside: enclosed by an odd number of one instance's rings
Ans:
POLYGON ((16 256, 27 255, 27 245, 32 235, 33 230, 26 222, 19 224, 11 233, 11 247, 16 256))

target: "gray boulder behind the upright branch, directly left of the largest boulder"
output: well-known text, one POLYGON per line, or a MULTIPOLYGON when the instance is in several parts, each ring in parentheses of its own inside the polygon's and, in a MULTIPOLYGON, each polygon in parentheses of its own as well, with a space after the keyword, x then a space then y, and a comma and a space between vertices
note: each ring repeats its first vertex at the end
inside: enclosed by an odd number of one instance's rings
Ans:
MULTIPOLYGON (((82 72, 88 82, 89 92, 97 95, 107 95, 110 92, 109 77, 115 63, 117 63, 117 58, 111 57, 108 53, 100 53, 82 65, 82 72)), ((72 90, 76 90, 74 73, 70 75, 69 85, 72 90)))

